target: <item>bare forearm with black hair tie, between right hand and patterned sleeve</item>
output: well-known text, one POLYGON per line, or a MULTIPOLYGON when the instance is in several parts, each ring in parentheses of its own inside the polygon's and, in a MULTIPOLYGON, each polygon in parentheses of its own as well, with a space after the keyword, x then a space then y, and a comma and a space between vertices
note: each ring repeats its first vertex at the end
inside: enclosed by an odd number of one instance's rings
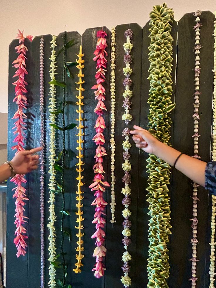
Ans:
MULTIPOLYGON (((154 149, 154 154, 173 166, 180 152, 166 144, 158 142, 154 149)), ((205 186, 205 167, 205 162, 185 154, 181 155, 176 163, 176 169, 202 186, 205 186)))

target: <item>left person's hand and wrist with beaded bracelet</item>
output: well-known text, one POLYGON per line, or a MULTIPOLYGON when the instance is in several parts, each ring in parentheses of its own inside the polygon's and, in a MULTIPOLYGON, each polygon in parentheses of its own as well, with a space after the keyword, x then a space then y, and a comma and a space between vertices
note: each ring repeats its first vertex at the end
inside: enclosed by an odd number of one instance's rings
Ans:
POLYGON ((42 147, 19 151, 11 161, 1 165, 0 183, 16 174, 26 174, 37 169, 40 156, 34 154, 41 150, 42 147))

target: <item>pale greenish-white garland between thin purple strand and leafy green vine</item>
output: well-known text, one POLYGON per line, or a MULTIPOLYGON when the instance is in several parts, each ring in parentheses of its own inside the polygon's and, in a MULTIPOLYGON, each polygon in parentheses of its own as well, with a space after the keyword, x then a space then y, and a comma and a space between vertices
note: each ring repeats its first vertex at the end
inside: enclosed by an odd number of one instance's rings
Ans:
MULTIPOLYGON (((51 48, 52 48, 52 54, 50 57, 51 63, 50 63, 50 79, 51 81, 55 80, 55 71, 57 69, 56 66, 56 55, 55 55, 55 47, 57 46, 56 43, 56 36, 53 36, 51 43, 51 48)), ((56 90, 55 90, 55 86, 50 84, 50 105, 49 105, 49 124, 55 124, 55 114, 52 114, 51 112, 55 112, 56 111, 56 90)), ((50 207, 49 207, 49 223, 47 225, 50 234, 48 236, 48 240, 49 240, 49 259, 48 261, 50 262, 49 264, 49 282, 48 282, 48 286, 51 288, 55 288, 56 287, 56 282, 55 282, 55 266, 53 264, 51 264, 53 261, 55 261, 55 257, 56 257, 56 247, 55 247, 55 221, 56 221, 56 216, 55 216, 55 193, 53 193, 53 191, 55 190, 56 187, 56 171, 55 171, 55 127, 50 126, 50 146, 49 146, 49 171, 48 173, 50 174, 50 178, 49 178, 49 183, 48 183, 48 189, 50 190, 50 198, 48 203, 50 203, 50 207)))

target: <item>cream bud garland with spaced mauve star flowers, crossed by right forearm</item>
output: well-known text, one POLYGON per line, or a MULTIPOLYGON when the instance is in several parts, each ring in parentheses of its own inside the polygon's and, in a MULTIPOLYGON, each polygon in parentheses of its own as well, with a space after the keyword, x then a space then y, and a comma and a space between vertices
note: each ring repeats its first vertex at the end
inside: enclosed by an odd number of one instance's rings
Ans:
MULTIPOLYGON (((202 14, 202 11, 198 10, 194 13, 194 16, 196 17, 196 25, 194 26, 194 30, 195 30, 195 46, 194 46, 194 51, 195 51, 195 93, 193 94, 194 96, 194 114, 193 114, 193 120, 194 120, 194 134, 193 134, 193 141, 194 141, 194 155, 193 157, 195 158, 201 158, 200 156, 198 156, 198 140, 199 140, 199 134, 198 134, 198 128, 199 128, 199 106, 200 106, 200 102, 199 102, 199 96, 201 94, 200 92, 200 82, 199 82, 199 77, 200 77, 200 48, 201 44, 200 44, 200 27, 202 26, 200 22, 200 18, 199 16, 202 14)), ((193 238, 191 239, 191 243, 192 243, 192 258, 190 259, 190 261, 192 261, 192 267, 191 267, 191 271, 192 271, 192 277, 190 278, 191 281, 191 287, 195 288, 196 287, 196 281, 197 281, 197 277, 196 277, 196 262, 197 260, 197 244, 198 244, 198 240, 197 240, 197 224, 198 224, 198 219, 197 219, 197 201, 199 201, 199 199, 197 198, 197 191, 199 185, 197 183, 193 183, 193 218, 190 219, 192 222, 192 229, 193 229, 193 238)))

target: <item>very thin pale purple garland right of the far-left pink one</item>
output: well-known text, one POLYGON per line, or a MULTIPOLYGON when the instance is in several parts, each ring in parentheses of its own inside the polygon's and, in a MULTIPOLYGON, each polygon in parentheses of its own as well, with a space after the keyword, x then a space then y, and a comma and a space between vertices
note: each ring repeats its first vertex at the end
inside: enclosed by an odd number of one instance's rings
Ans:
POLYGON ((44 288, 44 40, 41 38, 40 42, 40 118, 41 118, 41 288, 44 288))

